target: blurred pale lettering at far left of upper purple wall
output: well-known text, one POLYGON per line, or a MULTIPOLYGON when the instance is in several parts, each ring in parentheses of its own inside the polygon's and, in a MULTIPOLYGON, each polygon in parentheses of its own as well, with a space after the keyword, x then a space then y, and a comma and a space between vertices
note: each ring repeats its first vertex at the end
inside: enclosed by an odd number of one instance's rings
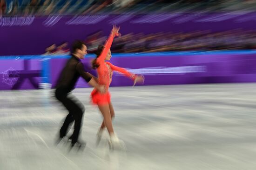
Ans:
POLYGON ((34 21, 34 16, 27 17, 0 17, 0 26, 25 26, 31 25, 34 21))

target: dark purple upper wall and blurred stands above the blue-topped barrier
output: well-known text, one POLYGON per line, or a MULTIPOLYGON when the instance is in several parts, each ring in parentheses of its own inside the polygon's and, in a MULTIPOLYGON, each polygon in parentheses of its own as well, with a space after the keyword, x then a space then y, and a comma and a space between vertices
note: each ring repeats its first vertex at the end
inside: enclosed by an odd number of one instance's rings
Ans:
POLYGON ((123 35, 113 44, 118 53, 253 50, 255 5, 254 0, 1 0, 0 55, 65 54, 74 39, 94 52, 113 24, 123 35))

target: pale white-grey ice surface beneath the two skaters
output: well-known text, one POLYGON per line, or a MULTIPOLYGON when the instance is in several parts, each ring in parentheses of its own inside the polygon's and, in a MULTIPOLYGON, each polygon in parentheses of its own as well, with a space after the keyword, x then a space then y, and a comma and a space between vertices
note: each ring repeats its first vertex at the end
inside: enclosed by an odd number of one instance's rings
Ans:
MULTIPOLYGON (((83 152, 54 145, 67 111, 53 90, 0 91, 0 170, 256 170, 256 84, 110 88, 115 132, 127 152, 109 151, 92 88, 83 152)), ((72 132, 69 132, 69 134, 72 132)))

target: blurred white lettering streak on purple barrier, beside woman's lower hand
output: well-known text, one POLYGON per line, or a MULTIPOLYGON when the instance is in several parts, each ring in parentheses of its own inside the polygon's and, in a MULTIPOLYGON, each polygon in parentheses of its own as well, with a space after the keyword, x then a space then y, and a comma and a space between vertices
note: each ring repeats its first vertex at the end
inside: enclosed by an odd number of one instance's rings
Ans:
POLYGON ((149 67, 141 69, 127 69, 134 74, 185 74, 185 73, 205 73, 206 66, 182 66, 182 67, 149 67))

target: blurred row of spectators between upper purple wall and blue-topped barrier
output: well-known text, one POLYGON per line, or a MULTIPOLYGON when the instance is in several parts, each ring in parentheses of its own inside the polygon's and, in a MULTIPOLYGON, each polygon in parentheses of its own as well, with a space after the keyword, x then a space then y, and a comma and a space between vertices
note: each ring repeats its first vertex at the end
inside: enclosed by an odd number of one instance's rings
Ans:
MULTIPOLYGON (((104 44, 107 37, 98 31, 85 40, 88 52, 94 53, 98 45, 104 44)), ((67 54, 68 44, 51 45, 48 54, 67 54)), ((129 52, 161 52, 184 50, 254 50, 256 49, 256 31, 241 29, 222 32, 193 31, 188 33, 159 32, 155 34, 129 33, 115 38, 111 51, 115 53, 129 52)))

